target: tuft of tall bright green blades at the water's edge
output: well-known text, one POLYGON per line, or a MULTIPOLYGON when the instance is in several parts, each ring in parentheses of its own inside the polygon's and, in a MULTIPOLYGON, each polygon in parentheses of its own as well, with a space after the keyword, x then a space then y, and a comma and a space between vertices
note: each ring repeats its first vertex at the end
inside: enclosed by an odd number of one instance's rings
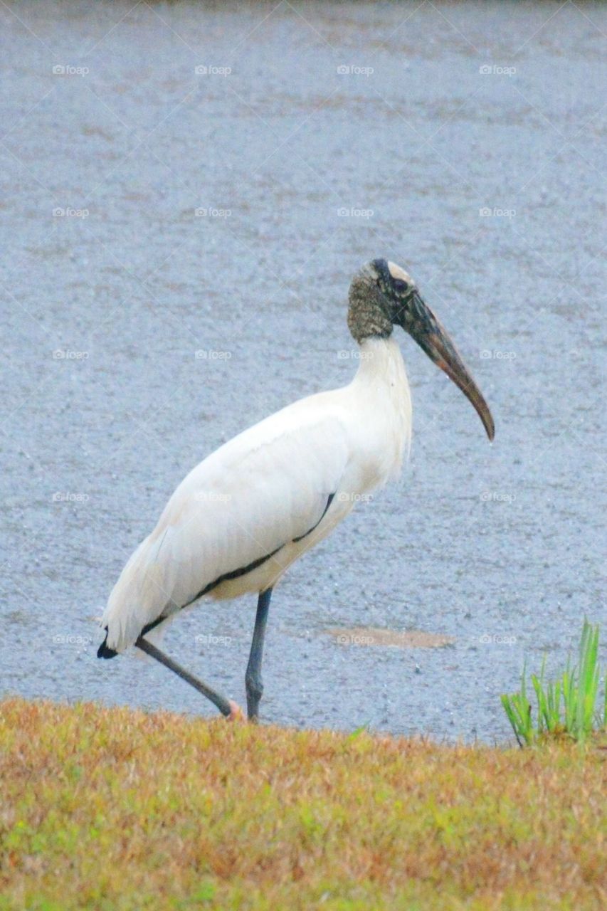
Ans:
POLYGON ((527 696, 527 667, 523 666, 520 691, 510 695, 505 693, 501 697, 520 746, 530 746, 541 736, 559 734, 566 734, 583 743, 594 730, 607 726, 607 684, 602 713, 596 711, 600 677, 598 655, 599 627, 584 619, 577 664, 571 667, 571 660, 568 660, 560 678, 546 681, 544 656, 540 676, 531 674, 537 701, 535 721, 527 696))

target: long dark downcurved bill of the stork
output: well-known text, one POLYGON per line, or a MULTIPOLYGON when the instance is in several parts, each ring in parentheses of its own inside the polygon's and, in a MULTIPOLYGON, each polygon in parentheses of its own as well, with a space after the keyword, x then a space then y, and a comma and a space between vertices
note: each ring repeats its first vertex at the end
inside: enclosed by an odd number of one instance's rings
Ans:
POLYGON ((444 370, 449 379, 459 386, 478 412, 480 420, 487 431, 489 440, 495 435, 495 425, 489 411, 489 405, 480 394, 478 385, 472 379, 468 367, 462 361, 458 350, 443 329, 437 317, 415 291, 403 308, 400 322, 403 329, 415 339, 420 348, 427 353, 434 363, 444 370))

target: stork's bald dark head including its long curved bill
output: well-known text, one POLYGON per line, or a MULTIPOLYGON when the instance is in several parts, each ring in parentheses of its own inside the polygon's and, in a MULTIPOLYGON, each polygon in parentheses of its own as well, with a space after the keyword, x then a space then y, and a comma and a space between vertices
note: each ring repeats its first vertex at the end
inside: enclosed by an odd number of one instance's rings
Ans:
POLYGON ((356 272, 349 293, 348 326, 356 342, 387 338, 401 326, 428 357, 458 385, 493 439, 495 427, 477 384, 437 317, 417 291, 411 276, 394 262, 372 260, 356 272))

